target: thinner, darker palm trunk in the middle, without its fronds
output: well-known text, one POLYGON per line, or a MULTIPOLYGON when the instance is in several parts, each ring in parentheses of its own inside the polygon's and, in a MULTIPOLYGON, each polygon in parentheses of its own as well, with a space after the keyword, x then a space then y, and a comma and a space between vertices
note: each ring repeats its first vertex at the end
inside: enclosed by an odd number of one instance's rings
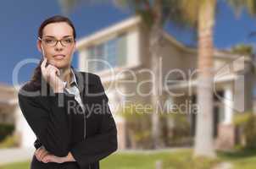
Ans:
POLYGON ((154 5, 154 21, 153 26, 150 29, 150 40, 149 40, 149 48, 151 54, 151 68, 153 70, 153 83, 152 83, 152 105, 153 105, 153 113, 152 113, 152 138, 153 138, 153 148, 160 148, 164 146, 162 140, 162 130, 160 125, 160 109, 159 109, 159 101, 162 91, 161 89, 161 77, 159 76, 160 71, 160 40, 162 38, 162 1, 155 0, 154 5))

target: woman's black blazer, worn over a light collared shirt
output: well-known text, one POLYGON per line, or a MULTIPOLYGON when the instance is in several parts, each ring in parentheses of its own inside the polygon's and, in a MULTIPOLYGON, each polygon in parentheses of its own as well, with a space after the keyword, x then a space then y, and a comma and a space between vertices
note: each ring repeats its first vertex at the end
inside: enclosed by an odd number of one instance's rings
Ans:
POLYGON ((99 161, 117 150, 117 129, 101 79, 73 70, 85 112, 75 95, 54 93, 44 79, 41 85, 29 81, 19 89, 19 107, 36 134, 36 149, 43 145, 53 155, 71 152, 75 158, 75 162, 43 163, 34 155, 31 169, 98 169, 99 161))

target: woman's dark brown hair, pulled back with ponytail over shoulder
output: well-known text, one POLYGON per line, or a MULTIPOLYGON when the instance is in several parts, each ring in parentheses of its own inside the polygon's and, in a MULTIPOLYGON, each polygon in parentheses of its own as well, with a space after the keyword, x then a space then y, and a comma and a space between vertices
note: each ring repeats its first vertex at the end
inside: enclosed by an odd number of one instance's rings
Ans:
MULTIPOLYGON (((53 23, 59 23, 59 22, 65 22, 71 26, 71 28, 73 30, 73 36, 75 39, 75 37, 76 37, 75 26, 73 25, 73 23, 71 22, 70 19, 68 19, 67 17, 61 16, 61 15, 55 15, 53 17, 45 19, 38 29, 38 37, 42 38, 43 29, 46 25, 53 24, 53 23)), ((43 57, 41 58, 41 61, 38 63, 38 65, 36 66, 34 73, 32 75, 32 78, 31 78, 31 83, 33 85, 35 85, 35 87, 41 86, 41 80, 42 80, 41 64, 42 64, 42 61, 43 61, 43 57)))

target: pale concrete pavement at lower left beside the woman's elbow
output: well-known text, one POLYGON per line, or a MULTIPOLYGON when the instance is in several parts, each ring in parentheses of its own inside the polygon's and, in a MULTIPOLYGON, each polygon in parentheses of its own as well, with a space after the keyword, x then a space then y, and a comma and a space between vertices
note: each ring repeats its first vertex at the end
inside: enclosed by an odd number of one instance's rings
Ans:
POLYGON ((35 148, 11 148, 11 149, 0 149, 0 166, 19 162, 19 161, 29 161, 31 160, 35 148))

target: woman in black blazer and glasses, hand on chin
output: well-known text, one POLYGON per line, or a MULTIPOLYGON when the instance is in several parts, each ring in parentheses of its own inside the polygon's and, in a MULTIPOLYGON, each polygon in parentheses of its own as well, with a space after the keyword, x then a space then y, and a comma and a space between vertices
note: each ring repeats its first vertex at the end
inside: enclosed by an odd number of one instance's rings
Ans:
POLYGON ((117 130, 99 76, 71 66, 70 19, 42 22, 37 48, 42 60, 19 90, 20 109, 36 134, 31 169, 98 169, 117 150, 117 130))

